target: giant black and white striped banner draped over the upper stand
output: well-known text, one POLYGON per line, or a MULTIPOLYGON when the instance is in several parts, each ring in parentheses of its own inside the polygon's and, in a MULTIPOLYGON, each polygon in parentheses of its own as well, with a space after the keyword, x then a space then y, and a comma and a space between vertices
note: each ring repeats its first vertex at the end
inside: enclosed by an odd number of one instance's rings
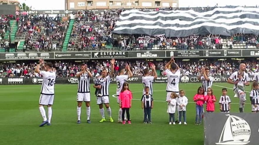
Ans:
POLYGON ((124 11, 116 22, 118 34, 165 34, 167 37, 236 33, 259 34, 259 8, 217 8, 210 11, 124 11))

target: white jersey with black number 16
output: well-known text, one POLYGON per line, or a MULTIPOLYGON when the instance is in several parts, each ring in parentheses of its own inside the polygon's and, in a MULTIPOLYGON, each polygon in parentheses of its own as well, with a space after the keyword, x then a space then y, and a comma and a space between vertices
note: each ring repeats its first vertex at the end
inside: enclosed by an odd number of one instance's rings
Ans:
POLYGON ((56 80, 56 72, 40 71, 39 74, 43 76, 41 94, 54 95, 54 83, 56 80))

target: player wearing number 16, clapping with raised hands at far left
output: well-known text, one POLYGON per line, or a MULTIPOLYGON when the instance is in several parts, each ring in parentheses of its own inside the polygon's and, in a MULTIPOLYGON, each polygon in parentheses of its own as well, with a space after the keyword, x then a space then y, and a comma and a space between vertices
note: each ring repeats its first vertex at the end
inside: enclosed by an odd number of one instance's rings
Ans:
POLYGON ((36 67, 35 72, 43 76, 43 82, 41 86, 41 95, 39 99, 39 111, 43 118, 43 122, 40 124, 40 127, 45 124, 51 125, 52 117, 52 105, 54 101, 54 83, 56 80, 56 70, 53 68, 52 63, 47 63, 45 65, 43 59, 39 59, 39 64, 36 67), (43 65, 43 70, 40 70, 40 66, 43 65), (44 106, 48 106, 48 120, 46 117, 46 112, 44 106))

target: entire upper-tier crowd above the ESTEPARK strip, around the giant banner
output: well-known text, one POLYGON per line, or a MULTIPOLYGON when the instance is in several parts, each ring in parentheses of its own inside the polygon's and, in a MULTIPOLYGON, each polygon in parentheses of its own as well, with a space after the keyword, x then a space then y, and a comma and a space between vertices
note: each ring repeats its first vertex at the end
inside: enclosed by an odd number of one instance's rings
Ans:
MULTIPOLYGON (((213 9, 196 8, 199 11, 213 9)), ((176 10, 178 8, 169 8, 176 10)), ((189 8, 195 9, 195 8, 189 8)), ((140 11, 158 11, 159 9, 139 9, 140 11)), ((74 13, 75 23, 68 43, 69 50, 103 50, 113 46, 115 50, 190 50, 190 49, 233 49, 235 44, 244 44, 241 48, 255 46, 259 48, 259 37, 253 34, 235 34, 232 37, 221 35, 199 35, 189 37, 165 37, 164 35, 113 35, 112 30, 124 9, 103 10, 100 13, 80 10, 74 13), (225 40, 226 39, 226 40, 225 40), (225 42, 223 42, 225 40, 225 42)), ((49 15, 16 12, 18 31, 16 36, 26 35, 25 48, 30 51, 52 51, 62 47, 69 20, 49 17, 49 15)), ((2 23, 2 19, 0 24, 2 23)), ((0 28, 0 35, 1 28, 0 28)), ((1 38, 0 38, 1 39, 1 38)))

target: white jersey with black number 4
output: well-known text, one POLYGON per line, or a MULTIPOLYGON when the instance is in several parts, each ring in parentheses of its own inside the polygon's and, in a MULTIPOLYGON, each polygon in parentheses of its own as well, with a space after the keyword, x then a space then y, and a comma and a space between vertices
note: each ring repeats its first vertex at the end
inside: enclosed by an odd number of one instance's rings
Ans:
POLYGON ((177 70, 175 73, 170 71, 169 69, 165 70, 165 73, 167 75, 167 86, 166 91, 167 92, 179 92, 179 81, 180 81, 180 70, 177 70))

